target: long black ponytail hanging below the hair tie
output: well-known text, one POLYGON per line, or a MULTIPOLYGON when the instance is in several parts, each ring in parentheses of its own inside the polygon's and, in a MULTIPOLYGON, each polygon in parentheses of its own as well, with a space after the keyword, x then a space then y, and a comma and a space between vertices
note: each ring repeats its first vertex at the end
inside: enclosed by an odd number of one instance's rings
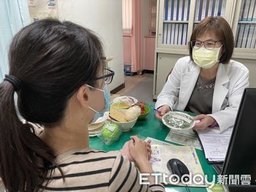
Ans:
POLYGON ((44 182, 45 166, 56 164, 49 147, 35 134, 31 124, 17 116, 14 87, 0 84, 0 170, 7 191, 37 191, 44 182))

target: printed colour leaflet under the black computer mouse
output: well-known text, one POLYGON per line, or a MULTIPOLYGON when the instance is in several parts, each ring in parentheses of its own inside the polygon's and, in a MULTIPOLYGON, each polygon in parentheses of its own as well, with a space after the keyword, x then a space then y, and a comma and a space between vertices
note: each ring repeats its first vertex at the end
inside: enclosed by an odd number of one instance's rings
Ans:
MULTIPOLYGON (((195 148, 191 146, 172 146, 172 145, 152 145, 152 168, 156 173, 165 173, 167 175, 171 175, 172 173, 167 168, 167 162, 170 159, 179 159, 188 167, 189 172, 192 175, 200 174, 204 177, 204 172, 202 170, 200 161, 198 160, 198 156, 195 152, 195 148)), ((191 178, 191 179, 192 179, 191 178)), ((163 181, 163 178, 160 179, 163 181)), ((166 182, 169 182, 166 179, 166 182)), ((178 184, 179 186, 184 186, 181 182, 178 184)), ((201 184, 188 184, 188 186, 195 187, 204 187, 205 183, 202 181, 201 184)))

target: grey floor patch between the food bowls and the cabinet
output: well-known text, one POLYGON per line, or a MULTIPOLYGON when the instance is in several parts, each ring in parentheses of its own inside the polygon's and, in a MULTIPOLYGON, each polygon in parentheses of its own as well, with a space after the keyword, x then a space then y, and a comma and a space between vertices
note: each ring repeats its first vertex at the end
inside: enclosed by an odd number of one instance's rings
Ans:
POLYGON ((127 91, 125 95, 135 97, 138 101, 155 104, 153 102, 153 80, 153 74, 148 75, 131 90, 127 91))

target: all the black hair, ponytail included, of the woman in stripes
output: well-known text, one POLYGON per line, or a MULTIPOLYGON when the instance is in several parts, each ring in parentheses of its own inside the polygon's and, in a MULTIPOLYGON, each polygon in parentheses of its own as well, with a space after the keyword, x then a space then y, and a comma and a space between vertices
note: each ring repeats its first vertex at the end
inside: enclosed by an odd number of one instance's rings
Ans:
POLYGON ((7 191, 38 191, 51 167, 58 168, 51 148, 17 111, 31 123, 61 124, 70 93, 95 79, 102 53, 99 38, 72 22, 39 20, 15 35, 9 73, 21 82, 17 104, 13 84, 0 83, 0 177, 7 191))

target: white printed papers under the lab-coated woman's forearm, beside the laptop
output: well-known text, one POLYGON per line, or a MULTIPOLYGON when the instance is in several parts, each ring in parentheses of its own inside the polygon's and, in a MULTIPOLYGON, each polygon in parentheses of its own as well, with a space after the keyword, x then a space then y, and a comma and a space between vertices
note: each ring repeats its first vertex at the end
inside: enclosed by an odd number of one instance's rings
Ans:
POLYGON ((224 161, 232 130, 229 128, 221 133, 216 133, 207 128, 197 131, 204 147, 205 158, 209 161, 224 161))

